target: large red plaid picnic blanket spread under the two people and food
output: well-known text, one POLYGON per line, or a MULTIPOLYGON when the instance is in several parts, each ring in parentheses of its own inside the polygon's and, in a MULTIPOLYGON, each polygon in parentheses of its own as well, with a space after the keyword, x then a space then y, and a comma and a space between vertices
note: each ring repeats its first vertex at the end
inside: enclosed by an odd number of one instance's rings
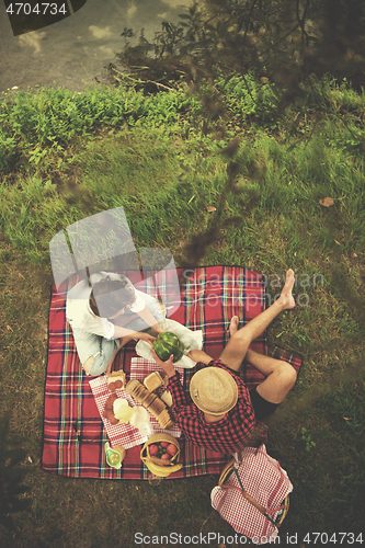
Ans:
MULTIPOLYGON (((153 295, 149 279, 152 273, 124 272, 138 288, 153 295), (145 287, 144 287, 145 283, 145 287)), ((258 272, 232 266, 206 266, 178 270, 181 283, 181 306, 171 316, 192 330, 203 330, 204 350, 218 358, 228 342, 230 318, 239 317, 240 327, 265 308, 265 284, 258 272)), ((69 287, 78 282, 75 277, 69 287)), ((169 279, 166 276, 166 285, 169 279)), ((252 349, 266 353, 265 333, 254 341, 252 349)), ((276 351, 278 352, 278 351, 276 351)), ((130 342, 117 354, 113 369, 123 369, 130 378, 130 362, 137 357, 130 342)), ((282 359, 297 370, 301 358, 286 353, 282 359)), ((189 390, 191 370, 183 372, 184 388, 189 390)), ((263 378, 246 364, 242 374, 251 388, 263 378)), ((42 467, 44 470, 73 478, 148 479, 148 470, 140 460, 141 446, 127 450, 119 470, 105 460, 104 444, 107 432, 101 419, 95 398, 78 358, 72 331, 66 320, 66 296, 53 287, 48 327, 48 363, 45 385, 44 439, 42 467)), ((180 438, 182 469, 168 479, 206 473, 220 473, 230 456, 201 449, 180 438)))

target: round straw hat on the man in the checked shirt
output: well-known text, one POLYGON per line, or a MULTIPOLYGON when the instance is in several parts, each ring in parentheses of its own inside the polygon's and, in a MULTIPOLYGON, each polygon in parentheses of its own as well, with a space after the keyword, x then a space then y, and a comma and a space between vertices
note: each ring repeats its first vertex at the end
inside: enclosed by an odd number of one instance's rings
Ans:
POLYGON ((233 377, 219 367, 205 367, 193 375, 190 395, 195 406, 209 414, 224 414, 237 403, 238 389, 233 377))

